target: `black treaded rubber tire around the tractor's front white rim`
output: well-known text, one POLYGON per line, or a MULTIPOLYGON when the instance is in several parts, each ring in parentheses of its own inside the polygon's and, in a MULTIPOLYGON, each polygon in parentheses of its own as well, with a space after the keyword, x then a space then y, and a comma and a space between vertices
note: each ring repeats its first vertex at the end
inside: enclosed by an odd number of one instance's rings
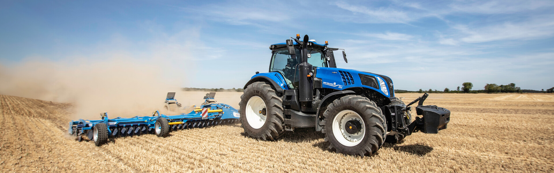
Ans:
POLYGON ((338 98, 327 106, 325 110, 322 133, 325 134, 325 141, 329 141, 331 151, 340 152, 346 155, 371 156, 381 148, 386 138, 387 123, 381 109, 368 98, 359 95, 347 95, 338 98), (343 110, 351 110, 361 116, 365 135, 359 144, 346 146, 341 144, 334 135, 332 125, 337 114, 343 110))

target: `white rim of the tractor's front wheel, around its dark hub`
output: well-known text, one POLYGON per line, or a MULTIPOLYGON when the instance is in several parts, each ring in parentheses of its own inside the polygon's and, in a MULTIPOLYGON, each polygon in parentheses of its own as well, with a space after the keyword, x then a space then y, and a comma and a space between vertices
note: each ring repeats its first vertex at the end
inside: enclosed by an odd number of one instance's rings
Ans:
POLYGON ((345 146, 355 146, 362 142, 363 137, 366 135, 366 126, 362 117, 352 110, 343 110, 338 113, 333 119, 333 135, 337 139, 338 143, 345 146), (350 120, 357 120, 361 123, 360 132, 356 134, 350 134, 346 131, 346 122, 350 120))

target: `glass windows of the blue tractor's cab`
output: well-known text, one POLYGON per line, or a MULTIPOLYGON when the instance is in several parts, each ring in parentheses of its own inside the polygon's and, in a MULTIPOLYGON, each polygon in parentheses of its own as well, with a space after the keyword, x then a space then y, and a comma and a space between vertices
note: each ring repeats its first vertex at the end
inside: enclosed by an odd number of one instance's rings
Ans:
MULTIPOLYGON (((299 49, 295 49, 296 58, 291 58, 288 49, 275 50, 271 57, 271 64, 269 65, 269 72, 279 72, 285 77, 285 82, 289 85, 289 88, 295 89, 298 87, 298 64, 301 61, 301 54, 299 49)), ((325 62, 325 55, 321 50, 308 49, 308 63, 310 63, 314 69, 317 67, 327 67, 325 62)))

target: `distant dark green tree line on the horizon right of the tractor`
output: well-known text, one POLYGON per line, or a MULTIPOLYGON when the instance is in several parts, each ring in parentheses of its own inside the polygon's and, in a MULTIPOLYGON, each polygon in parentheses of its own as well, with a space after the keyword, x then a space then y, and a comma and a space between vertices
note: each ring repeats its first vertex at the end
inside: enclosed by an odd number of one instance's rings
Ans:
POLYGON ((455 90, 450 90, 445 88, 442 91, 439 90, 423 90, 419 89, 418 91, 408 91, 408 90, 394 90, 395 93, 554 93, 554 87, 542 90, 531 90, 531 89, 521 89, 516 87, 516 84, 510 83, 507 85, 497 85, 497 84, 486 84, 482 90, 471 90, 473 89, 473 83, 464 82, 461 84, 461 88, 458 86, 455 90))

